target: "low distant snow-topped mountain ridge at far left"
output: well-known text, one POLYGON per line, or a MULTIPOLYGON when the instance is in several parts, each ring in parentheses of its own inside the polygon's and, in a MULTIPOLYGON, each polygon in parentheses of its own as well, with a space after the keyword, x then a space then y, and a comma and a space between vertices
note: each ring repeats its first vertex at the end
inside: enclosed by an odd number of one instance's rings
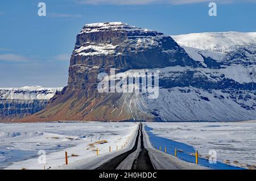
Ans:
POLYGON ((62 88, 26 86, 0 88, 0 122, 13 121, 46 108, 49 99, 62 88))

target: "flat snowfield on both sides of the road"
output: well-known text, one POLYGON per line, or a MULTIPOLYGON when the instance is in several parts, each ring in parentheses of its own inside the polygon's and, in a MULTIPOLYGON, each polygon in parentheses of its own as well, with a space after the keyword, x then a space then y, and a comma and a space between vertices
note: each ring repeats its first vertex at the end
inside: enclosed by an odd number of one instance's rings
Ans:
MULTIPOLYGON (((135 123, 23 123, 0 124, 0 169, 95 169, 131 148, 135 123), (130 139, 129 139, 130 138, 130 139), (121 146, 128 141, 128 146, 121 146), (112 152, 109 153, 109 146, 112 152), (118 146, 118 150, 116 150, 118 146), (96 149, 100 155, 96 156, 96 149), (38 163, 38 151, 46 163, 38 163), (68 151, 68 166, 65 166, 68 151), (72 155, 73 154, 73 155, 72 155)), ((256 169, 256 122, 145 123, 152 146, 167 147, 183 161, 210 169, 256 169), (217 164, 208 162, 209 150, 217 151, 217 164)))

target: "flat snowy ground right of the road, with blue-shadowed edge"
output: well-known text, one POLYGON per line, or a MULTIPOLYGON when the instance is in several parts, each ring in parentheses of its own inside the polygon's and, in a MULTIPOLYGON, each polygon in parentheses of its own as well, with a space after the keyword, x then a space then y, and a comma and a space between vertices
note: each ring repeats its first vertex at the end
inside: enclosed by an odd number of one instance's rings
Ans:
POLYGON ((146 123, 152 145, 167 147, 167 153, 195 162, 195 150, 204 159, 199 164, 212 169, 256 169, 256 123, 146 123), (209 150, 216 150, 217 164, 209 164, 209 150), (223 164, 225 163, 225 164, 223 164), (229 167, 236 166, 236 167, 229 167))

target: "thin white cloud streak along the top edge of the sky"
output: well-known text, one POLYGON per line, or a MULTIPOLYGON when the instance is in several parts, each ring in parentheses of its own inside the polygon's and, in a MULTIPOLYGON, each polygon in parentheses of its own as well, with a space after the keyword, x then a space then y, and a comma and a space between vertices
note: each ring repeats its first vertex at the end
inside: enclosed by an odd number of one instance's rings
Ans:
POLYGON ((219 3, 234 3, 234 2, 256 2, 256 0, 76 0, 78 3, 100 5, 150 5, 150 4, 171 4, 184 5, 202 2, 219 2, 219 3))

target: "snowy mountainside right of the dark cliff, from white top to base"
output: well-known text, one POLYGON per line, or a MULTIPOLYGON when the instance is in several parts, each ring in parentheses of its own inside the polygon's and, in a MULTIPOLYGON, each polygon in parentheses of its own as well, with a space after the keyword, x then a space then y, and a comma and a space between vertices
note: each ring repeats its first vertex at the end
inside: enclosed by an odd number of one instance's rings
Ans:
POLYGON ((147 101, 151 111, 165 121, 256 118, 256 33, 192 33, 172 38, 204 68, 161 69, 160 96, 147 101))

